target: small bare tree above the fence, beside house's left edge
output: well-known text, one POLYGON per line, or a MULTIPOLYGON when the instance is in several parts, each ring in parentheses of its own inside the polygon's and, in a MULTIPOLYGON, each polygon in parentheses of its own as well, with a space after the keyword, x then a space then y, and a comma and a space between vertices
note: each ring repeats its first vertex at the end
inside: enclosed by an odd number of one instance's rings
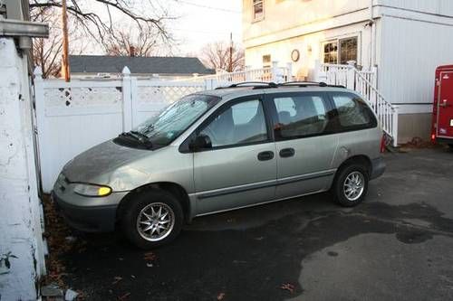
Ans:
POLYGON ((224 71, 244 70, 244 51, 233 47, 230 68, 230 46, 228 42, 214 42, 201 49, 200 59, 207 67, 224 71))

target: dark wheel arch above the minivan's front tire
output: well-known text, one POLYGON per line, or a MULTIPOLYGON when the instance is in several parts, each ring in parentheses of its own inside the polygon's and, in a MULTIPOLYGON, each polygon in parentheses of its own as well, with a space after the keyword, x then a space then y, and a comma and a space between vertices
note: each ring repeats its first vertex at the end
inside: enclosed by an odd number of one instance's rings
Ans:
POLYGON ((182 211, 184 212, 184 219, 185 221, 190 221, 191 217, 191 207, 190 207, 190 200, 188 198, 188 193, 178 183, 172 183, 172 182, 158 182, 158 183, 147 183, 144 184, 140 187, 137 187, 133 190, 131 190, 129 193, 127 193, 120 201, 120 204, 118 206, 117 212, 116 212, 116 223, 118 224, 124 210, 128 207, 129 200, 132 199, 135 195, 138 195, 139 193, 144 193, 149 190, 153 189, 159 189, 163 190, 165 192, 171 193, 173 196, 175 196, 178 200, 178 202, 181 204, 182 211))

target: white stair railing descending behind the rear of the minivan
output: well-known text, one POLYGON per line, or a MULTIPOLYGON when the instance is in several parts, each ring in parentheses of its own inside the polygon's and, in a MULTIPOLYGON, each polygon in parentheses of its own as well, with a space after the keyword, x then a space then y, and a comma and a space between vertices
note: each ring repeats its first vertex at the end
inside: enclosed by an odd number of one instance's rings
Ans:
POLYGON ((317 63, 316 81, 353 89, 368 101, 376 113, 385 133, 392 138, 393 146, 398 145, 398 107, 386 100, 377 89, 377 69, 359 71, 351 65, 317 63))

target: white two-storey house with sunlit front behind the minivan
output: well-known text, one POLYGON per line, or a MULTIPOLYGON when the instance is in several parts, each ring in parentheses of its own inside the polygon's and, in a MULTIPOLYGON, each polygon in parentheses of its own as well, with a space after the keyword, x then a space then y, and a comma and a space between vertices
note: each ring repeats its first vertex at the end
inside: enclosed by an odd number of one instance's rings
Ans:
POLYGON ((398 106, 399 142, 429 139, 437 66, 453 62, 451 0, 243 0, 246 65, 292 61, 298 80, 315 61, 377 71, 398 106))

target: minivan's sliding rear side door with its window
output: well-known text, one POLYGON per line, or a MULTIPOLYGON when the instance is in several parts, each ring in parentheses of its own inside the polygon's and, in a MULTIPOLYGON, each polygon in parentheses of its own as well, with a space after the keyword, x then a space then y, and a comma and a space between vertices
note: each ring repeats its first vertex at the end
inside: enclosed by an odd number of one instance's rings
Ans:
POLYGON ((333 108, 323 92, 279 93, 267 96, 274 107, 277 156, 276 198, 315 193, 333 177, 333 108))

